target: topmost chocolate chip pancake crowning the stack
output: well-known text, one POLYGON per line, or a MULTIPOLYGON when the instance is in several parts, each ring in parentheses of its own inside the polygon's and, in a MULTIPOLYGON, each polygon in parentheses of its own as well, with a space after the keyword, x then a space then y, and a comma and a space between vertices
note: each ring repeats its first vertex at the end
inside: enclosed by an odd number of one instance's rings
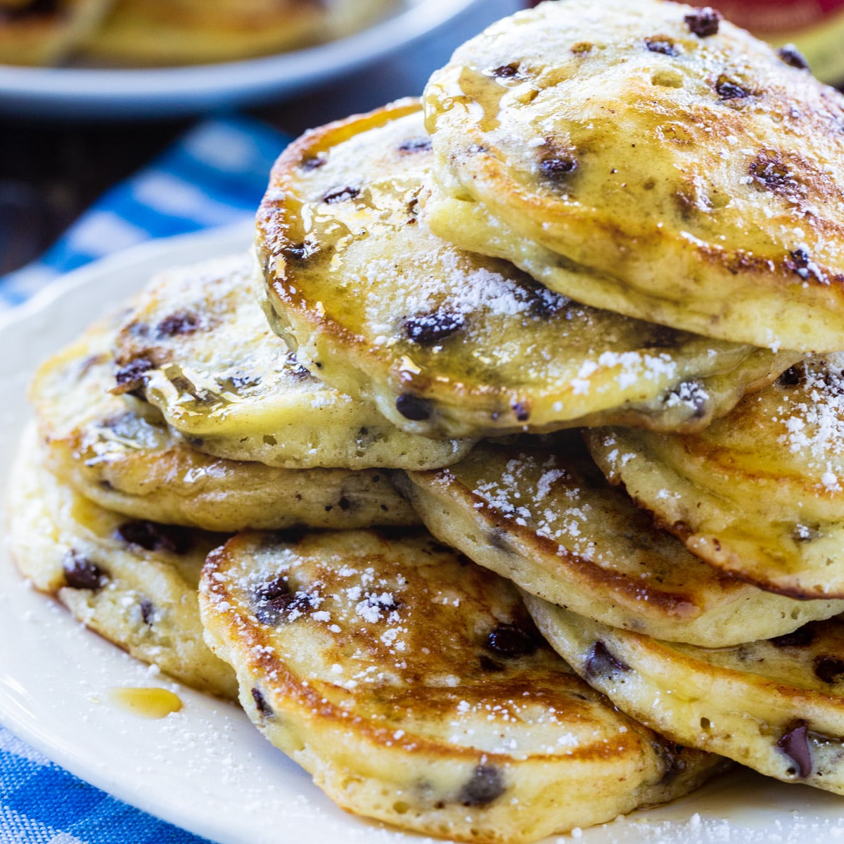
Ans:
POLYGON ((543 3, 425 89, 429 223, 564 295, 757 346, 844 332, 844 97, 657 0, 543 3))

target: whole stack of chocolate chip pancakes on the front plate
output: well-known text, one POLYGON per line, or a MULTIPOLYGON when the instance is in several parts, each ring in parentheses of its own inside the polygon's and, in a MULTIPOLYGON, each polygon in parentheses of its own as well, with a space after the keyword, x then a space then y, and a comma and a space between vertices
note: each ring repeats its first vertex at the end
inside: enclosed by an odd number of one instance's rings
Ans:
POLYGON ((41 368, 19 565, 410 830, 844 793, 842 208, 794 51, 517 14, 41 368))

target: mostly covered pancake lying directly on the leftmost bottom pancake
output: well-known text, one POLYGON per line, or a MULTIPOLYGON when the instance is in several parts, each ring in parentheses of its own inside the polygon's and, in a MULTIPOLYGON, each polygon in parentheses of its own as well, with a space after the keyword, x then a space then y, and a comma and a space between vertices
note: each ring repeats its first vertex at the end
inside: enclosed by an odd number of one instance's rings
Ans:
POLYGON ((46 463, 100 506, 232 532, 419 521, 378 469, 284 469, 197 452, 156 408, 109 392, 114 335, 108 322, 89 329, 46 361, 30 387, 46 463))

